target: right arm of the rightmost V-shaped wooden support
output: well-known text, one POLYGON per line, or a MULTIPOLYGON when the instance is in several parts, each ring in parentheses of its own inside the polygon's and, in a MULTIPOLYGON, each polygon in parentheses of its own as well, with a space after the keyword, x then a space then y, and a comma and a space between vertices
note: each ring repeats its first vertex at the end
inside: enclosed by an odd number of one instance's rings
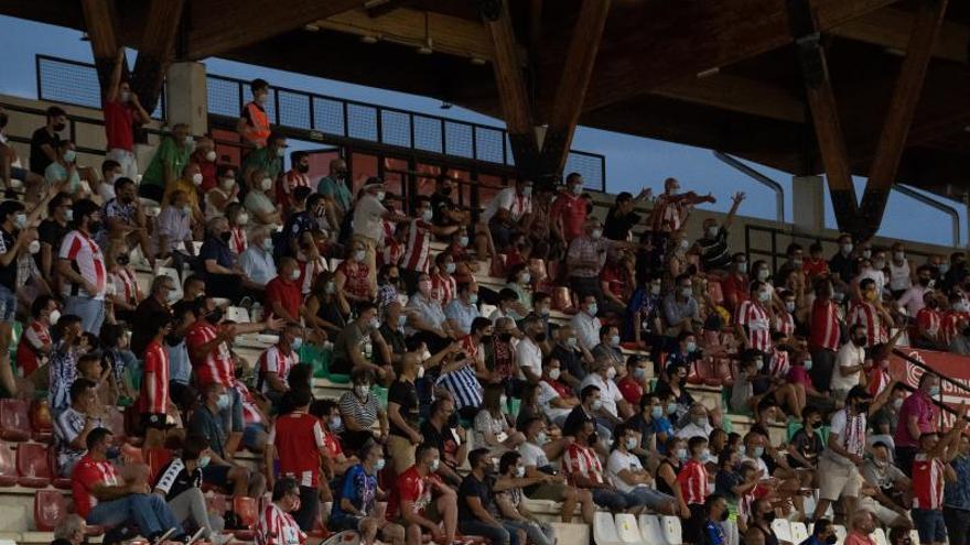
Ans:
POLYGON ((893 99, 890 102, 890 110, 886 113, 875 157, 869 173, 865 193, 862 196, 861 238, 870 238, 875 235, 882 224, 890 192, 899 167, 899 159, 906 148, 906 137, 913 124, 913 116, 923 91, 926 68, 933 58, 934 43, 946 17, 947 2, 948 0, 923 0, 920 2, 909 35, 906 57, 899 69, 893 99))

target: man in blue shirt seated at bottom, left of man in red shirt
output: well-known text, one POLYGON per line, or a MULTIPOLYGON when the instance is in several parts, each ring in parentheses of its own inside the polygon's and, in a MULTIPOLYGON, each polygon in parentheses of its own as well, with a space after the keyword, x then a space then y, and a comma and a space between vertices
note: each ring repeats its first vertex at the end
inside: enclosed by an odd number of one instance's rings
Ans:
MULTIPOLYGON (((377 501, 386 493, 377 484, 377 473, 384 469, 380 444, 367 442, 360 450, 360 464, 347 470, 334 501, 330 527, 335 532, 351 530, 360 533, 365 545, 375 543, 378 531, 381 539, 394 545, 405 543, 405 528, 400 524, 377 516, 377 501)), ((413 465, 413 464, 412 464, 413 465)))

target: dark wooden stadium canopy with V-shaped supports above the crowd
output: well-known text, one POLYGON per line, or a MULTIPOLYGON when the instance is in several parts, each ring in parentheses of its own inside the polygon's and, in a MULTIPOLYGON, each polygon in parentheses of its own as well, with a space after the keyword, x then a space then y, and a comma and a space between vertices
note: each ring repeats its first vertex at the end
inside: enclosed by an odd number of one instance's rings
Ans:
POLYGON ((142 97, 170 62, 218 56, 439 98, 504 119, 529 176, 561 171, 576 123, 826 174, 859 237, 895 183, 970 189, 966 1, 4 0, 0 13, 84 30, 104 76, 119 45, 138 50, 142 97), (869 178, 861 205, 852 175, 869 178))

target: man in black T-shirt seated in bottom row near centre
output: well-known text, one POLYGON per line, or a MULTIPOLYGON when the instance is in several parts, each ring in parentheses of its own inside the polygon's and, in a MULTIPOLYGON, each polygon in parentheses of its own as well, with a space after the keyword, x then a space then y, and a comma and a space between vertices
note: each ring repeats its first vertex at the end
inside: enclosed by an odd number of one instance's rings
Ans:
POLYGON ((459 487, 459 528, 463 534, 481 535, 494 545, 525 543, 525 531, 517 526, 503 525, 493 513, 497 512, 495 480, 492 458, 487 448, 476 448, 468 453, 472 471, 459 487), (516 537, 513 541, 510 534, 516 537))

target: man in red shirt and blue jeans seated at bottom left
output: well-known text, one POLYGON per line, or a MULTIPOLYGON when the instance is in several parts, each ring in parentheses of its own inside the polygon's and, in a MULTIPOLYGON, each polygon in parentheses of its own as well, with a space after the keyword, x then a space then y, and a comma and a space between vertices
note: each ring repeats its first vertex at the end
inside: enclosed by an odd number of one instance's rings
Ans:
POLYGON ((107 459, 111 432, 98 427, 87 434, 87 454, 74 467, 71 489, 74 510, 88 524, 115 527, 134 523, 139 533, 154 543, 163 534, 185 539, 185 531, 165 500, 152 494, 148 482, 136 479, 122 482, 107 459))

